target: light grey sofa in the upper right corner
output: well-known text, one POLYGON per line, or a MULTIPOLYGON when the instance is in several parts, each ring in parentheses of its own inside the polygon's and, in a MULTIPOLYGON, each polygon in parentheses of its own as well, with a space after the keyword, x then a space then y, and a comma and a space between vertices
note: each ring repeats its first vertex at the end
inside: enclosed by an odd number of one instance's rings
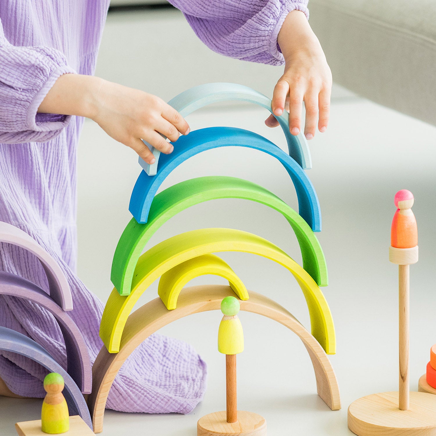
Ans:
POLYGON ((310 0, 334 82, 436 125, 436 0, 310 0))

